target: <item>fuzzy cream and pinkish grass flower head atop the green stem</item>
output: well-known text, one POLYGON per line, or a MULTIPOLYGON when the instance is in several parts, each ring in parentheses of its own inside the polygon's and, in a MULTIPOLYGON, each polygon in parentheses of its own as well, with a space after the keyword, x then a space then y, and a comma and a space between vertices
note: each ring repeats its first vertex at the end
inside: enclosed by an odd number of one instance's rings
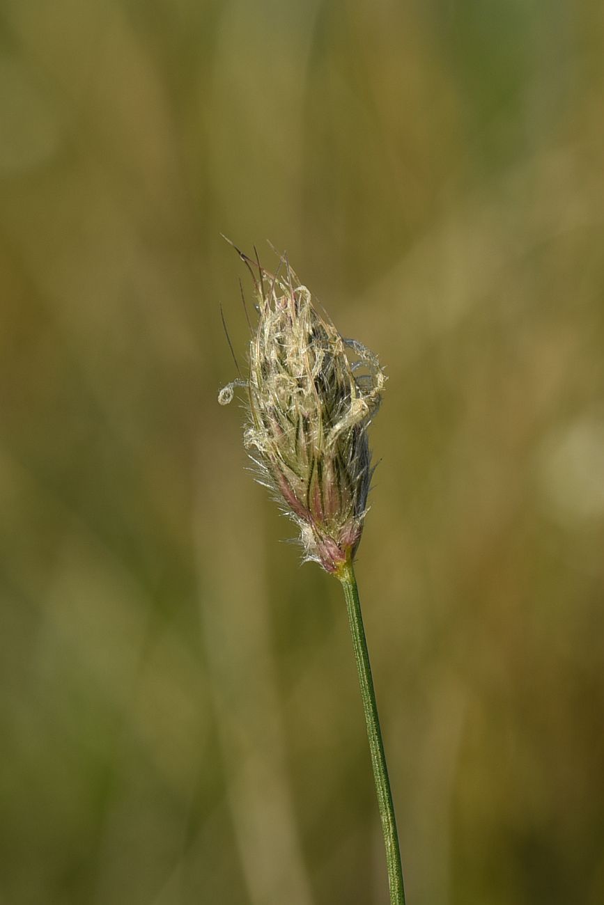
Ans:
POLYGON ((369 349, 319 315, 284 259, 273 276, 239 254, 258 272, 259 319, 249 376, 225 386, 218 401, 226 405, 234 386, 247 386, 244 443, 259 480, 300 528, 305 558, 338 572, 360 542, 371 479, 367 429, 386 377, 369 349))

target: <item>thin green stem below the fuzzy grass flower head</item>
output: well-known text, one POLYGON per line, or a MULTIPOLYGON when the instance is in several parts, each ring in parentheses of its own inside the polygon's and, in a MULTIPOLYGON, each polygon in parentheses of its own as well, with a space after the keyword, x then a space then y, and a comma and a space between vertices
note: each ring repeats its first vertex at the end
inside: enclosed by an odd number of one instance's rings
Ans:
POLYGON ((379 729, 378 704, 371 678, 371 665, 367 639, 360 612, 359 590, 352 563, 347 562, 338 573, 346 597, 346 606, 354 645, 354 656, 359 670, 360 696, 363 699, 363 710, 367 722, 371 766, 378 795, 379 816, 381 818, 384 843, 386 845, 386 864, 388 867, 388 884, 390 887, 390 905, 405 905, 405 889, 403 887, 403 870, 398 848, 397 821, 392 804, 392 793, 388 780, 388 767, 379 729))

